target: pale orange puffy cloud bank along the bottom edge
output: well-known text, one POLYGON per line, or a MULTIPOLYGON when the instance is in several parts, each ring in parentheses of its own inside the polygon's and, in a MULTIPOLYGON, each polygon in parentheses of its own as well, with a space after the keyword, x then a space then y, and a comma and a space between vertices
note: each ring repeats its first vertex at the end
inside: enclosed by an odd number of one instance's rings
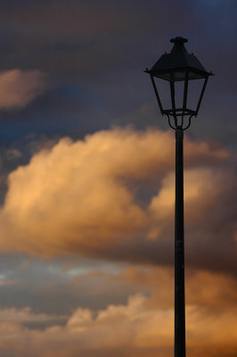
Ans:
MULTIPOLYGON (((173 353, 173 309, 148 308, 143 295, 130 296, 127 304, 110 304, 94 315, 89 309, 78 308, 61 327, 30 329, 26 320, 44 320, 45 316, 25 309, 16 311, 15 320, 7 322, 8 311, 1 320, 0 349, 18 355, 49 357, 135 355, 170 357, 173 353), (115 354, 114 354, 115 353, 115 354), (155 354, 156 353, 156 354, 155 354)), ((207 314, 197 306, 187 306, 187 350, 193 355, 212 357, 236 352, 236 328, 233 312, 207 314), (225 326, 225 328, 223 328, 225 326)))

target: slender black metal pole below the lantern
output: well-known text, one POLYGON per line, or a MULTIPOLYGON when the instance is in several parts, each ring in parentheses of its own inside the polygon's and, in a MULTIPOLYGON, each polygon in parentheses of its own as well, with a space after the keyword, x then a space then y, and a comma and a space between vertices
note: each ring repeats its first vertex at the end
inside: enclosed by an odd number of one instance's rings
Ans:
POLYGON ((184 131, 176 129, 175 357, 185 357, 184 131))

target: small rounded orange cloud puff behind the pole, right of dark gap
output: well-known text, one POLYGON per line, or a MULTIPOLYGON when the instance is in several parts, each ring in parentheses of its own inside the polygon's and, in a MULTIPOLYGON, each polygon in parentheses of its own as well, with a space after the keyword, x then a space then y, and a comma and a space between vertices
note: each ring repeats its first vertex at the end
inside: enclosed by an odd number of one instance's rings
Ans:
MULTIPOLYGON (((230 174, 229 174, 230 175, 230 174)), ((212 211, 218 205, 218 200, 223 189, 223 184, 233 185, 233 177, 226 175, 222 170, 213 167, 187 169, 184 171, 184 210, 186 228, 206 226, 206 214, 208 223, 212 211)), ((150 237, 157 238, 163 234, 164 227, 170 228, 170 221, 174 220, 175 207, 175 174, 168 174, 162 180, 162 186, 158 195, 154 195, 150 203, 151 216, 156 222, 157 228, 152 228, 150 237)), ((192 237, 191 237, 192 239, 192 237)))

